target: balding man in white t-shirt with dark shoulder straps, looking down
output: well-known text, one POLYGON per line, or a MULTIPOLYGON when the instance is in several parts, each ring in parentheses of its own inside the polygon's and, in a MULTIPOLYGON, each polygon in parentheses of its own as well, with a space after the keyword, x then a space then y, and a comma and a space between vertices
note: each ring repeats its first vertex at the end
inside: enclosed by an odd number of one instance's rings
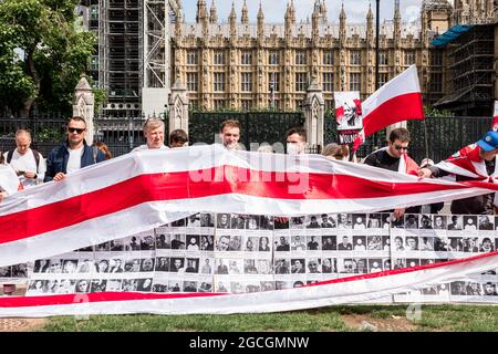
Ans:
POLYGON ((46 164, 43 156, 31 148, 31 133, 25 129, 15 132, 15 149, 3 155, 6 163, 15 170, 24 188, 41 184, 46 164))

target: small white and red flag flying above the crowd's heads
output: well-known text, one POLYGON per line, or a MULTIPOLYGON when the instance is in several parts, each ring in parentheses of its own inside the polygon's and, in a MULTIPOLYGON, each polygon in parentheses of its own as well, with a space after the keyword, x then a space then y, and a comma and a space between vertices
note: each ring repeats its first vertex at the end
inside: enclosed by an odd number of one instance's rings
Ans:
POLYGON ((409 119, 425 119, 417 67, 403 73, 375 91, 363 104, 363 131, 354 142, 354 150, 365 138, 386 126, 409 119))

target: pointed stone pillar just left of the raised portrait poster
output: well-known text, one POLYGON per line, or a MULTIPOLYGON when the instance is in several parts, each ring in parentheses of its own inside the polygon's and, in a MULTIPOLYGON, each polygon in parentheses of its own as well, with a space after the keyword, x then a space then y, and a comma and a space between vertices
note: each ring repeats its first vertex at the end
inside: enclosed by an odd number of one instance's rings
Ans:
POLYGON ((313 77, 307 91, 304 101, 304 128, 308 134, 309 145, 320 145, 323 147, 325 101, 323 100, 322 87, 313 77))

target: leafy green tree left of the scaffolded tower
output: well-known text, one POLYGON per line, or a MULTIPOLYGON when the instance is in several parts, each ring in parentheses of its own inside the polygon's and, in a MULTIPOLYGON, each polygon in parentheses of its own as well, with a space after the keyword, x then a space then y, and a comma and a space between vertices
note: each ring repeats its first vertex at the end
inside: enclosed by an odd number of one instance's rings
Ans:
POLYGON ((33 104, 68 112, 95 48, 76 25, 79 0, 0 1, 0 104, 28 116, 33 104))

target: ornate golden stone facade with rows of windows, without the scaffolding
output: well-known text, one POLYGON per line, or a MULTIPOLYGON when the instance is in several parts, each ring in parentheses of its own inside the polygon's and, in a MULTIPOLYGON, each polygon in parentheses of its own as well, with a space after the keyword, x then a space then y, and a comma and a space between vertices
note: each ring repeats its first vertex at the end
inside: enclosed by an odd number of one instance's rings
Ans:
MULTIPOLYGON (((394 18, 380 30, 380 84, 416 64, 425 98, 435 102, 445 94, 444 62, 429 41, 450 25, 453 7, 424 1, 419 20, 404 23, 400 1, 393 1, 394 18)), ((365 98, 375 91, 375 21, 372 8, 365 13, 364 23, 350 24, 342 9, 339 24, 330 23, 325 1, 315 0, 311 21, 298 23, 291 0, 282 24, 267 24, 261 6, 257 23, 249 23, 246 3, 239 20, 232 7, 228 22, 220 23, 215 1, 208 9, 199 0, 195 23, 172 25, 173 72, 201 110, 274 103, 295 111, 312 81, 322 87, 325 107, 333 105, 334 91, 360 91, 365 98)))

